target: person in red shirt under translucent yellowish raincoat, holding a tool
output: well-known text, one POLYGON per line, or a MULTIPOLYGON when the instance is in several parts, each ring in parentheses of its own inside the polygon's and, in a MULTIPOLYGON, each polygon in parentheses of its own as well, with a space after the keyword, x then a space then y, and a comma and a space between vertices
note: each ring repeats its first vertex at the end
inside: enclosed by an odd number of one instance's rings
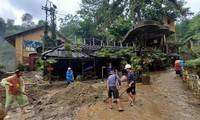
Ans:
POLYGON ((15 75, 2 79, 1 85, 6 88, 6 104, 5 104, 5 118, 10 118, 7 115, 10 109, 20 107, 23 114, 28 113, 24 107, 28 105, 28 97, 21 93, 25 92, 25 84, 22 78, 23 69, 17 69, 15 75))

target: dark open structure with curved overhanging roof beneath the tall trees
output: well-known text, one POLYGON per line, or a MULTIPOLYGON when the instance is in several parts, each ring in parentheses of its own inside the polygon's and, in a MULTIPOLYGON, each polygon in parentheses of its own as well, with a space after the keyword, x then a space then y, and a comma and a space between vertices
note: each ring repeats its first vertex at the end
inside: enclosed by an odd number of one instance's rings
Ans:
MULTIPOLYGON (((149 69, 155 70, 161 67, 161 64, 163 67, 166 66, 165 63, 171 64, 171 57, 178 54, 178 45, 166 39, 167 36, 175 33, 174 20, 166 15, 162 20, 162 22, 154 20, 138 22, 128 31, 123 40, 123 43, 134 44, 135 52, 141 58, 147 55, 154 57, 154 62, 149 65, 149 69)), ((175 35, 173 37, 176 39, 175 35)))

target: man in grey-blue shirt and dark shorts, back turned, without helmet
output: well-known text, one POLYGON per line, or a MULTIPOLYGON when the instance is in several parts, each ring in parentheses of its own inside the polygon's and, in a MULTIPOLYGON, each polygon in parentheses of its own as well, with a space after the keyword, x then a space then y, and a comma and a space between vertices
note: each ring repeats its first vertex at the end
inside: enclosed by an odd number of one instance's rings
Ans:
POLYGON ((121 105, 121 100, 119 98, 119 92, 116 87, 116 83, 118 81, 119 85, 121 86, 121 81, 116 74, 117 71, 112 71, 110 75, 108 76, 108 98, 109 98, 109 108, 112 109, 112 95, 114 96, 115 99, 117 99, 117 104, 118 104, 118 110, 119 112, 123 112, 124 109, 122 109, 121 105))

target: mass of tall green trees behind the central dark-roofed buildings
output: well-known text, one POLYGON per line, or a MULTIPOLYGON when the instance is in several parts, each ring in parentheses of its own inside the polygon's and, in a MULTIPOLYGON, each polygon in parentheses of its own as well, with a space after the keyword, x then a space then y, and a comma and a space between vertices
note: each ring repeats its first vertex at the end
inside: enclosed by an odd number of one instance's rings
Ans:
POLYGON ((77 16, 60 19, 60 32, 70 39, 77 36, 119 41, 132 24, 141 20, 162 22, 163 14, 174 19, 187 16, 189 8, 183 5, 184 0, 82 0, 77 16))

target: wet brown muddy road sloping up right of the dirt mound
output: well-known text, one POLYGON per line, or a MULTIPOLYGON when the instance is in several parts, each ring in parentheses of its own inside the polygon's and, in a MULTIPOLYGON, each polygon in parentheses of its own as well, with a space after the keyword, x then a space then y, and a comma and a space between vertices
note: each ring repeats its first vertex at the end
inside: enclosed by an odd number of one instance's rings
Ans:
POLYGON ((124 112, 118 112, 116 104, 111 110, 99 101, 81 107, 75 120, 199 120, 200 99, 185 89, 181 79, 173 78, 174 72, 167 72, 153 75, 151 85, 137 84, 135 106, 128 106, 128 96, 122 96, 124 112))

